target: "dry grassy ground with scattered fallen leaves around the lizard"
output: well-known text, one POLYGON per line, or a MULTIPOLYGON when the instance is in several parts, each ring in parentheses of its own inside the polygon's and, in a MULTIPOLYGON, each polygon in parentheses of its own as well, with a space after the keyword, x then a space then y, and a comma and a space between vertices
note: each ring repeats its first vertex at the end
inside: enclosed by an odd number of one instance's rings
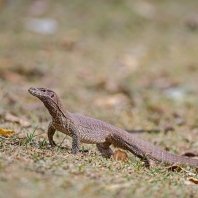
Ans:
POLYGON ((197 197, 195 168, 147 169, 130 153, 127 162, 104 159, 86 144, 74 156, 59 132, 52 149, 50 115, 27 92, 51 88, 71 112, 159 129, 135 135, 196 153, 197 8, 196 0, 1 0, 0 128, 15 135, 0 137, 0 197, 197 197), (46 18, 52 26, 41 32, 32 21, 46 18))

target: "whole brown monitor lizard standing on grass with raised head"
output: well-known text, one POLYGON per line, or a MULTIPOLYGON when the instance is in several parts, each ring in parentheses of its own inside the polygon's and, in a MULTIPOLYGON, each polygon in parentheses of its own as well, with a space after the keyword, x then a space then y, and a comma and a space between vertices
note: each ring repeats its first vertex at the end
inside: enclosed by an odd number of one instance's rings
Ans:
POLYGON ((39 98, 52 116, 48 127, 50 145, 56 146, 56 130, 72 137, 72 153, 79 152, 80 143, 96 144, 104 157, 111 157, 110 145, 128 150, 149 166, 149 159, 165 164, 186 164, 198 167, 198 160, 168 153, 128 132, 94 118, 73 114, 65 110, 57 94, 47 88, 30 87, 29 93, 39 98))

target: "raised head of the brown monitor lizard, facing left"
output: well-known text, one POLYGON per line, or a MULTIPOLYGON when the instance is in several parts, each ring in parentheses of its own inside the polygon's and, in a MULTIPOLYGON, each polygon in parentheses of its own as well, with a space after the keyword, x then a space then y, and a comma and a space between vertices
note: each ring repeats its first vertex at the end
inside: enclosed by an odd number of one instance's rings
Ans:
POLYGON ((39 98, 42 102, 53 100, 55 103, 58 102, 57 94, 51 89, 44 87, 30 87, 29 93, 39 98))

